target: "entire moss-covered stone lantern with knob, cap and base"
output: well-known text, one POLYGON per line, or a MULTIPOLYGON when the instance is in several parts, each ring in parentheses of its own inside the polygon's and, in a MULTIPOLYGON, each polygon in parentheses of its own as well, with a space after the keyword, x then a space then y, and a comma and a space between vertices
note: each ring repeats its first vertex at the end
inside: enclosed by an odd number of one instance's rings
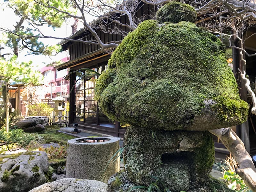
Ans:
POLYGON ((164 5, 157 20, 123 39, 101 74, 95 88, 101 110, 130 124, 125 172, 113 176, 108 191, 149 186, 154 178, 172 192, 212 191, 208 130, 244 122, 248 104, 239 97, 225 46, 195 20, 187 4, 164 5))

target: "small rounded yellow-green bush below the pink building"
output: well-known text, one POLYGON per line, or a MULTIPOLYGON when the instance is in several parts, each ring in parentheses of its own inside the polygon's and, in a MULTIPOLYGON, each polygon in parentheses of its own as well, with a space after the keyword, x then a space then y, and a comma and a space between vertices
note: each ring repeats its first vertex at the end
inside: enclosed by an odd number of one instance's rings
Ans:
POLYGON ((28 113, 30 116, 50 116, 53 109, 47 103, 37 103, 28 106, 28 113))

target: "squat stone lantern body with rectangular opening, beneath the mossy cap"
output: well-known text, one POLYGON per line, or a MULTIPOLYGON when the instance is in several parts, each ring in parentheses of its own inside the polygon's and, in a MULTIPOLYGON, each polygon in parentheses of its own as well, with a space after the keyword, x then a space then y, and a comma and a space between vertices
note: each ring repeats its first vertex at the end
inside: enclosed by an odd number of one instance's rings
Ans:
POLYGON ((187 191, 206 182, 214 163, 214 142, 208 131, 165 131, 130 126, 124 137, 128 178, 148 186, 162 180, 171 191, 187 191))

